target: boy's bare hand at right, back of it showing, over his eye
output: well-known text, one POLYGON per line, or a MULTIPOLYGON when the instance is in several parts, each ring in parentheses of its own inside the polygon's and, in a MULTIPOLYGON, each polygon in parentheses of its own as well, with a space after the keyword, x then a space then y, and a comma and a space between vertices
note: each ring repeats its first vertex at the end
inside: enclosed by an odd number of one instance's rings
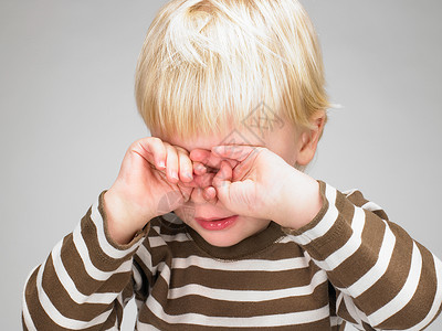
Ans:
POLYGON ((297 229, 322 207, 319 184, 264 147, 217 146, 193 150, 190 159, 219 168, 207 200, 219 200, 244 216, 269 218, 297 229))

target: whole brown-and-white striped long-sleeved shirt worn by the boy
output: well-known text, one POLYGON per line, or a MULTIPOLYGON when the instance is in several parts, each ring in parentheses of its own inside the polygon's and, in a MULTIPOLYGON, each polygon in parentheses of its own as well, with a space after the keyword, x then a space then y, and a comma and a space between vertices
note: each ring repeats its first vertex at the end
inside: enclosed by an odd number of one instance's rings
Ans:
POLYGON ((320 182, 306 226, 276 223, 211 246, 173 214, 128 245, 107 234, 103 194, 29 276, 24 330, 421 330, 441 312, 442 263, 359 191, 320 182))

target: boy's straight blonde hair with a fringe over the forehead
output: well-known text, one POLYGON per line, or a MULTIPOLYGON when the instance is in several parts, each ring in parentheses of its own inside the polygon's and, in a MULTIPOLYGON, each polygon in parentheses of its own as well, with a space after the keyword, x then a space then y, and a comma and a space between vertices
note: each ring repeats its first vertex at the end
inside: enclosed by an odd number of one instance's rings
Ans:
POLYGON ((308 127, 332 105, 320 47, 296 0, 172 0, 154 19, 135 83, 149 129, 210 135, 265 103, 308 127))

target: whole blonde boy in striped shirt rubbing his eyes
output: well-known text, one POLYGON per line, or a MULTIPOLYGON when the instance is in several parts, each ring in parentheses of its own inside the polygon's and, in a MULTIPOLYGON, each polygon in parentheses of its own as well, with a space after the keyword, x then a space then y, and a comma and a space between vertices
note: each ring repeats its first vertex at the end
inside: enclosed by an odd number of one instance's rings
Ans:
POLYGON ((136 79, 152 137, 27 281, 23 328, 421 330, 441 261, 301 170, 330 107, 297 1, 171 1, 136 79))

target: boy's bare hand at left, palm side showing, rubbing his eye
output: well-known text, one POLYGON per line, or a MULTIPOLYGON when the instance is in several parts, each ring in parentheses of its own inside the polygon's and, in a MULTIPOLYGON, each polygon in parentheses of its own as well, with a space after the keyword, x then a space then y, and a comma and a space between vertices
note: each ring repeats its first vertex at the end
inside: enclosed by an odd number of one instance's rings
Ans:
POLYGON ((156 137, 135 141, 126 151, 116 181, 104 194, 110 237, 127 244, 151 218, 187 202, 196 186, 193 170, 196 174, 206 172, 181 147, 156 137))

